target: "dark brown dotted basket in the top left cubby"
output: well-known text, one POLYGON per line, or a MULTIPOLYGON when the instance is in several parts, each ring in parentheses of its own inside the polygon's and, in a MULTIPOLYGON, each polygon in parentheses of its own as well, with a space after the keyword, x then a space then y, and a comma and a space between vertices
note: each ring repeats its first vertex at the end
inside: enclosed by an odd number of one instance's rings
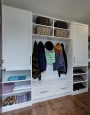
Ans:
POLYGON ((50 19, 38 16, 36 19, 36 24, 42 24, 42 25, 50 26, 50 19))

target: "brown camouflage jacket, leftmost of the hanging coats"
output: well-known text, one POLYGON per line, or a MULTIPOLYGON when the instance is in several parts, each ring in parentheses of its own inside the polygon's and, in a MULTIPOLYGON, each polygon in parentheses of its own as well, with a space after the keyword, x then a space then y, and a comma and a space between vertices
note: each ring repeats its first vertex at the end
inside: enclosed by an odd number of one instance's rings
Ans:
POLYGON ((32 77, 34 79, 39 78, 39 80, 41 80, 41 72, 38 64, 38 46, 36 41, 34 42, 32 54, 32 77))

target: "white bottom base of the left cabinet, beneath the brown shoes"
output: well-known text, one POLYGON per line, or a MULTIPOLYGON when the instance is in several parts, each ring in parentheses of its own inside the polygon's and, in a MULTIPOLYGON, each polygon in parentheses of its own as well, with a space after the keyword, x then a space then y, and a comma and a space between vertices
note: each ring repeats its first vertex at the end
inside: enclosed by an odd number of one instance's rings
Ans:
POLYGON ((32 105, 31 101, 27 101, 27 102, 23 102, 23 103, 19 103, 19 104, 8 105, 5 107, 2 107, 2 112, 4 113, 4 112, 12 111, 15 109, 23 108, 23 107, 28 107, 31 105, 32 105))

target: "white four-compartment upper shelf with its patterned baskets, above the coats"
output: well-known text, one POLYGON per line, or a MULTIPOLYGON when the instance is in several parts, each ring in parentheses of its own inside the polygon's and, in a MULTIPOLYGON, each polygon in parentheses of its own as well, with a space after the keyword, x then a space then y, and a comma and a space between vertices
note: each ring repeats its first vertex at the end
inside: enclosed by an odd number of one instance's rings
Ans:
POLYGON ((49 40, 71 40, 71 22, 47 16, 42 16, 38 14, 33 14, 32 36, 33 38, 39 38, 39 39, 45 38, 49 40), (40 18, 37 19, 37 17, 40 18))

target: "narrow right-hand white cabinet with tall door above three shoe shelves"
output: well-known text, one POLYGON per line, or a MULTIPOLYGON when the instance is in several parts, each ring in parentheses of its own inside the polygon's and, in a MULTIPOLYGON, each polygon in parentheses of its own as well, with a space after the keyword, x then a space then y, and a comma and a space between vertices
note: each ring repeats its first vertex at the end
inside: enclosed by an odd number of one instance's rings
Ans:
POLYGON ((72 29, 73 70, 84 71, 84 73, 73 73, 73 88, 78 83, 85 86, 84 89, 73 91, 74 95, 88 91, 88 25, 73 22, 72 29), (81 76, 83 80, 75 82, 75 76, 81 76))

